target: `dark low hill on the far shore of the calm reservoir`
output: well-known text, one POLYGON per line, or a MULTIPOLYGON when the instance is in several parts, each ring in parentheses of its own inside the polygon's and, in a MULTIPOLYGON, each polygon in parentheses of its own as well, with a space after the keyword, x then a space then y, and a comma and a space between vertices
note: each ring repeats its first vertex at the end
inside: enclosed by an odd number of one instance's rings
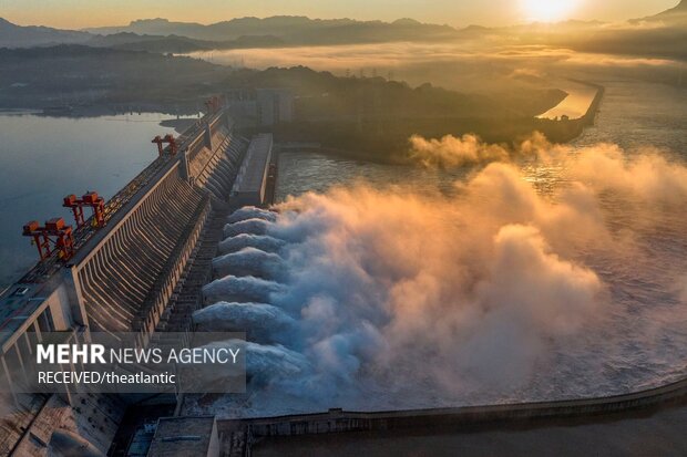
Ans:
POLYGON ((0 49, 0 107, 14 108, 65 103, 195 107, 199 97, 218 93, 230 73, 197 59, 81 44, 0 49))

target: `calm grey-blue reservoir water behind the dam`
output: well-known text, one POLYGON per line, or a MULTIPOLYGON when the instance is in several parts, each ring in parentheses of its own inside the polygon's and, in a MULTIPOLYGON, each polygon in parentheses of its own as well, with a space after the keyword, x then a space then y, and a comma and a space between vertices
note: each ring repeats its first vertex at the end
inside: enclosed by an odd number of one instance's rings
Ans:
POLYGON ((29 220, 71 212, 62 197, 95 190, 111 197, 150 164, 155 135, 172 133, 161 114, 90 118, 0 113, 0 285, 17 280, 38 260, 21 236, 29 220))

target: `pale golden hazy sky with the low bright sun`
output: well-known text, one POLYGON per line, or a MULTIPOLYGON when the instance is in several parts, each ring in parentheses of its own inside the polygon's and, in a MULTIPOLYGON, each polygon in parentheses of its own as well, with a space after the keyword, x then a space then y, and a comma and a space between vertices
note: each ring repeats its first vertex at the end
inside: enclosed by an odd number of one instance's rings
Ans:
POLYGON ((503 25, 560 9, 575 19, 618 21, 656 13, 678 0, 0 0, 0 17, 27 25, 122 25, 133 19, 167 18, 202 23, 275 14, 394 20, 403 17, 451 25, 503 25), (552 7, 553 6, 553 7, 552 7))

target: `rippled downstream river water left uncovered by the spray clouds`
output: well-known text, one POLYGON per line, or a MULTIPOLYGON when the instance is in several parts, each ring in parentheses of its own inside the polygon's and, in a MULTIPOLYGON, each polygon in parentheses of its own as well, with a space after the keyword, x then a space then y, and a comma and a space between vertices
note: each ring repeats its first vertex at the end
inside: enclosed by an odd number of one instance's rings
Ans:
MULTIPOLYGON (((599 143, 614 144, 627 157, 647 150, 687 164, 687 91, 636 81, 594 81, 606 87, 596 123, 573 142, 574 149, 599 143)), ((525 178, 540 190, 556 188, 564 174, 555 167, 523 166, 525 178)), ((318 154, 285 153, 279 160, 277 197, 306 191, 326 191, 331 186, 349 186, 363 180, 375 187, 410 184, 431 193, 439 188, 451 193, 453 181, 464 179, 468 170, 425 169, 410 166, 368 164, 355 159, 318 154)), ((640 177, 637 177, 638 179, 640 177)), ((666 177, 668 178, 668 177, 666 177)), ((481 404, 504 401, 540 401, 614 395, 685 376, 687 301, 675 290, 687 290, 687 219, 674 210, 637 214, 613 198, 602 196, 604 220, 616 233, 633 233, 637 253, 618 251, 611 258, 574 256, 603 280, 611 302, 607 321, 594 325, 564 346, 551 349, 550 365, 541 366, 523 390, 485 391, 459 394, 452 399, 406 398, 407 407, 481 404), (634 215, 634 216, 632 216, 634 215), (655 219, 658 218, 658 219, 655 219), (648 220, 653 219, 653 220, 648 220), (681 272, 681 273, 680 273, 681 272), (412 403, 410 399, 417 399, 412 403)), ((570 227, 574 231, 576 227, 570 227)), ((423 397, 422 397, 423 398, 423 397)), ((363 401, 369 402, 367 398, 363 401)), ((399 398, 380 401, 376 407, 397 407, 399 398)), ((362 405, 362 404, 361 404, 362 405)), ((351 407, 362 407, 353 404, 351 407)), ((286 407, 286 406, 285 406, 286 407)), ((370 406, 368 404, 368 407, 370 406)), ((297 409, 297 406, 295 406, 297 409)), ((253 412, 250 412, 253 413, 253 412)))

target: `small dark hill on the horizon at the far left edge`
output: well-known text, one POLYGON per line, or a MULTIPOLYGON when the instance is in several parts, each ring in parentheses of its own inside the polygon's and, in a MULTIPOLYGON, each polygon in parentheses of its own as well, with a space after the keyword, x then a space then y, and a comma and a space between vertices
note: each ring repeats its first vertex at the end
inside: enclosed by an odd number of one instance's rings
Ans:
POLYGON ((25 48, 59 43, 83 43, 90 33, 49 27, 17 25, 0 18, 0 48, 25 48))

